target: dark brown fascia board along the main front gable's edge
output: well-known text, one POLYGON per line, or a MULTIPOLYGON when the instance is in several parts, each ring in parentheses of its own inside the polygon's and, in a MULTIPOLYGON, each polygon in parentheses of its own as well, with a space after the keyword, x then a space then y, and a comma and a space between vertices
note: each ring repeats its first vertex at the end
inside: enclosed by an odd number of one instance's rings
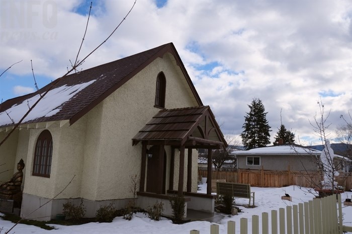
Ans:
POLYGON ((181 61, 181 58, 176 50, 176 48, 174 47, 173 43, 168 43, 165 44, 164 47, 162 49, 160 49, 157 53, 155 53, 154 56, 150 57, 147 61, 145 61, 144 63, 142 63, 138 68, 136 68, 135 70, 133 70, 130 74, 128 74, 127 76, 125 76, 120 82, 118 82, 116 85, 114 85, 113 87, 111 87, 110 89, 108 89, 107 91, 105 91, 101 96, 99 96, 97 99, 95 99, 94 101, 92 101, 89 105, 85 106, 82 110, 80 110, 78 113, 76 113, 75 115, 72 116, 72 118, 69 120, 70 125, 73 125, 77 120, 79 120, 84 114, 86 114, 87 112, 89 112, 91 109, 93 109, 96 105, 98 105, 101 101, 103 101, 105 98, 107 98, 110 94, 112 94, 116 89, 118 89, 119 87, 121 87, 124 83, 126 83, 129 79, 131 79, 133 76, 135 76, 138 72, 140 72, 143 68, 145 68, 148 64, 150 64, 152 61, 154 61, 156 58, 160 57, 162 58, 162 56, 166 53, 169 52, 171 53, 175 59, 177 64, 180 66, 183 74, 186 77, 186 80, 188 82, 188 84, 190 85, 190 88, 194 94, 194 96, 196 97, 196 100, 198 102, 199 105, 202 105, 202 101, 196 91, 196 88, 194 87, 192 80, 190 78, 190 76, 188 75, 186 68, 184 66, 184 64, 181 61))

